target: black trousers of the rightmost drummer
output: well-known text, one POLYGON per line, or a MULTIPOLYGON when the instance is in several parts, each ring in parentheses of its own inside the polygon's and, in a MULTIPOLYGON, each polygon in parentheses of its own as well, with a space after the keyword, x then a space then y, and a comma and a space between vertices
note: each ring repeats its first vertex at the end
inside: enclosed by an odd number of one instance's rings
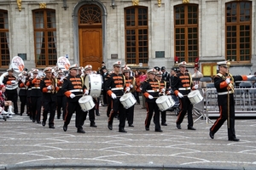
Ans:
POLYGON ((177 116, 177 124, 181 124, 183 122, 183 118, 188 112, 188 127, 193 127, 193 117, 192 117, 192 110, 193 110, 193 105, 191 104, 188 96, 184 96, 183 98, 179 99, 180 105, 180 111, 177 116))

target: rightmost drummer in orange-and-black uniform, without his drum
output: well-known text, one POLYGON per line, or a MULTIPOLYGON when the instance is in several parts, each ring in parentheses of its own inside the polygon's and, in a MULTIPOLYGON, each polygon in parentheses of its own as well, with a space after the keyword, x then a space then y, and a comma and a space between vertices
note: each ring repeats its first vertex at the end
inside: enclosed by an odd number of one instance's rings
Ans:
MULTIPOLYGON (((172 81, 172 90, 176 96, 178 96, 180 100, 180 111, 177 116, 176 127, 181 129, 180 124, 183 122, 183 118, 188 111, 188 129, 195 130, 193 127, 193 117, 192 117, 192 110, 193 105, 191 104, 188 94, 190 93, 191 89, 193 88, 192 77, 186 71, 187 63, 185 61, 179 63, 179 70, 180 72, 174 75, 172 81)), ((198 88, 198 85, 195 85, 195 88, 198 88)))

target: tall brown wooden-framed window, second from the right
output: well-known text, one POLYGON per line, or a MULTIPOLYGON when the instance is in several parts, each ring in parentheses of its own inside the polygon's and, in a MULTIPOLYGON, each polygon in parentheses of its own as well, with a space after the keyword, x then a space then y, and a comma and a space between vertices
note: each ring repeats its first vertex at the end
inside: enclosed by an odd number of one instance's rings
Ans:
POLYGON ((198 48, 198 5, 174 6, 174 56, 178 62, 195 62, 198 48))

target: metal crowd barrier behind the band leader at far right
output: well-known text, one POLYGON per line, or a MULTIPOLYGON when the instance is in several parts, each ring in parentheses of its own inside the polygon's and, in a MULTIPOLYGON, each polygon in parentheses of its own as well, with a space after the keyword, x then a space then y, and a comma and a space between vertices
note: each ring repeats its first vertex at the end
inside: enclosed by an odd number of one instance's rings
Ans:
MULTIPOLYGON (((207 123, 209 121, 212 122, 209 117, 219 116, 218 94, 216 88, 203 88, 199 90, 204 99, 200 103, 194 105, 193 114, 198 116, 194 122, 201 118, 205 118, 207 123)), ((235 115, 239 117, 256 116, 256 88, 243 88, 239 86, 234 89, 234 92, 235 115)))

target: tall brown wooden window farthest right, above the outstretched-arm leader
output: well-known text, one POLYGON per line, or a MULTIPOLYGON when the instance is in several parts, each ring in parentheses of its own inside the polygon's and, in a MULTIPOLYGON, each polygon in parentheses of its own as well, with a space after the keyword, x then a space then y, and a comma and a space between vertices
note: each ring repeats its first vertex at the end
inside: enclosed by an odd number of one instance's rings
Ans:
POLYGON ((225 3, 225 55, 230 61, 250 62, 252 2, 225 3))

